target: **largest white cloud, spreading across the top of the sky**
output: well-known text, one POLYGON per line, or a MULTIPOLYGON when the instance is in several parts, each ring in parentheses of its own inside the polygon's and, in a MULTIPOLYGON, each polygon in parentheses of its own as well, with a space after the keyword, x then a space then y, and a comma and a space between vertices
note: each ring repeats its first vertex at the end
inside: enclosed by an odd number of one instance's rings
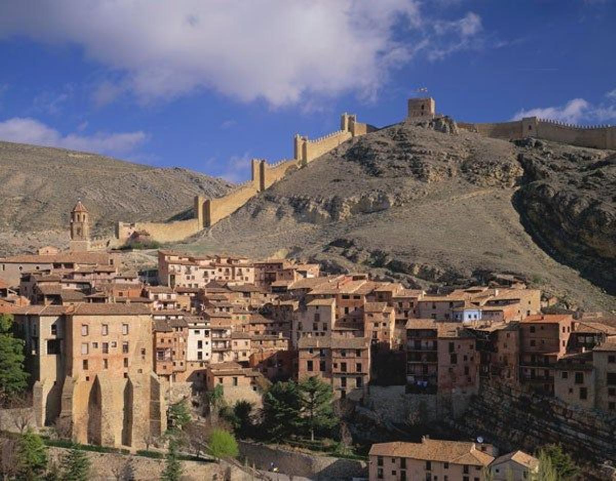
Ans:
MULTIPOLYGON (((420 44, 431 23, 418 0, 0 2, 0 37, 77 44, 110 69, 97 105, 127 90, 144 102, 198 89, 272 106, 346 92, 373 98, 417 51, 399 33, 416 31, 420 44)), ((442 28, 466 38, 481 23, 471 13, 442 28)))

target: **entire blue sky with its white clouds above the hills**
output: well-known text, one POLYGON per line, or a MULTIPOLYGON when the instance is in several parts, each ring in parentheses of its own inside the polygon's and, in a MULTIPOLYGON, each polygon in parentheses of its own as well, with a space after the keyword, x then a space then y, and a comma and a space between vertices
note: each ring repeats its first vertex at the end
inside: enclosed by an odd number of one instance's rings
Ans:
POLYGON ((465 121, 616 124, 616 1, 0 4, 0 139, 232 181, 428 87, 465 121))

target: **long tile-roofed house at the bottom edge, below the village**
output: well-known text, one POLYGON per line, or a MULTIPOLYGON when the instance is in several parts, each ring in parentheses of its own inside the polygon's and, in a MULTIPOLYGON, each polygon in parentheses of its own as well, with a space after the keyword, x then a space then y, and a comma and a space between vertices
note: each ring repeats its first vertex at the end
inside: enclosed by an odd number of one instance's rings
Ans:
POLYGON ((370 481, 480 481, 494 460, 490 445, 423 437, 419 443, 376 443, 370 448, 370 481))

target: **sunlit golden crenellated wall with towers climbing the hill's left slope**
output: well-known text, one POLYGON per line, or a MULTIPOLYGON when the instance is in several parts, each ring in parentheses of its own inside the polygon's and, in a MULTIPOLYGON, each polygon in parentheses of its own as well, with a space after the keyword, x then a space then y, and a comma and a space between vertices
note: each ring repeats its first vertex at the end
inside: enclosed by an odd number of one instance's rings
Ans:
POLYGON ((264 159, 253 159, 251 180, 238 185, 229 194, 216 199, 195 197, 195 218, 169 223, 118 222, 116 223, 116 239, 118 242, 124 242, 136 231, 147 231, 150 237, 158 242, 182 241, 197 234, 201 229, 213 226, 219 220, 240 209, 257 193, 269 188, 288 173, 305 167, 309 162, 328 153, 342 142, 377 130, 373 125, 357 122, 357 116, 347 113, 342 114, 340 125, 341 130, 314 140, 295 135, 293 159, 283 159, 275 164, 269 164, 264 159))

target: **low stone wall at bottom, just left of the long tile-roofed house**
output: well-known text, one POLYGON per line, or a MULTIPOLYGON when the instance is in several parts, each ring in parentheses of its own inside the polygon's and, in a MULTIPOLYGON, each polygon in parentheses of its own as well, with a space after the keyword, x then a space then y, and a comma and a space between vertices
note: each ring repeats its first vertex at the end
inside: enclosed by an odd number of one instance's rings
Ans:
POLYGON ((274 445, 239 441, 240 455, 257 469, 267 470, 274 463, 280 472, 315 480, 351 479, 368 477, 365 461, 331 456, 317 456, 303 451, 289 450, 274 445))

